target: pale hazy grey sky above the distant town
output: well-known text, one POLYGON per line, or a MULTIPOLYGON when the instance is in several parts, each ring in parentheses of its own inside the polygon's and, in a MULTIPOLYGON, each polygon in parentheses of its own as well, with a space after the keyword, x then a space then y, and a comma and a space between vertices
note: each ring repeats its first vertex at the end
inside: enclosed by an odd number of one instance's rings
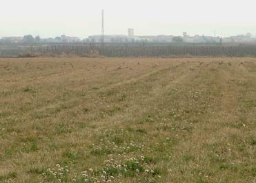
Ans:
POLYGON ((254 0, 1 0, 0 36, 256 34, 254 0))

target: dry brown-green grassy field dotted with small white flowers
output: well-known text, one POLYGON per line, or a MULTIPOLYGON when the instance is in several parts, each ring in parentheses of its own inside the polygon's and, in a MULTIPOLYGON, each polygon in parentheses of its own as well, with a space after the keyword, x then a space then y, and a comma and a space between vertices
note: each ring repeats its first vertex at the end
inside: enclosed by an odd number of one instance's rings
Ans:
POLYGON ((0 58, 0 182, 256 182, 256 58, 0 58))

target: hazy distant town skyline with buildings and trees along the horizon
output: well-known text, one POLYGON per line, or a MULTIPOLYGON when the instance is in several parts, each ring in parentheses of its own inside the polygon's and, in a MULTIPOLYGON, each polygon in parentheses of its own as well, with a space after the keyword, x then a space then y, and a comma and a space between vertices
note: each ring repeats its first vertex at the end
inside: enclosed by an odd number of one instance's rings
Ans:
POLYGON ((0 43, 256 43, 256 38, 253 34, 247 33, 237 36, 204 36, 204 35, 189 35, 183 32, 182 36, 173 35, 155 35, 155 36, 137 36, 134 30, 129 28, 127 35, 102 35, 88 36, 86 39, 79 39, 76 36, 56 36, 55 38, 41 38, 40 36, 10 36, 0 39, 0 43))

